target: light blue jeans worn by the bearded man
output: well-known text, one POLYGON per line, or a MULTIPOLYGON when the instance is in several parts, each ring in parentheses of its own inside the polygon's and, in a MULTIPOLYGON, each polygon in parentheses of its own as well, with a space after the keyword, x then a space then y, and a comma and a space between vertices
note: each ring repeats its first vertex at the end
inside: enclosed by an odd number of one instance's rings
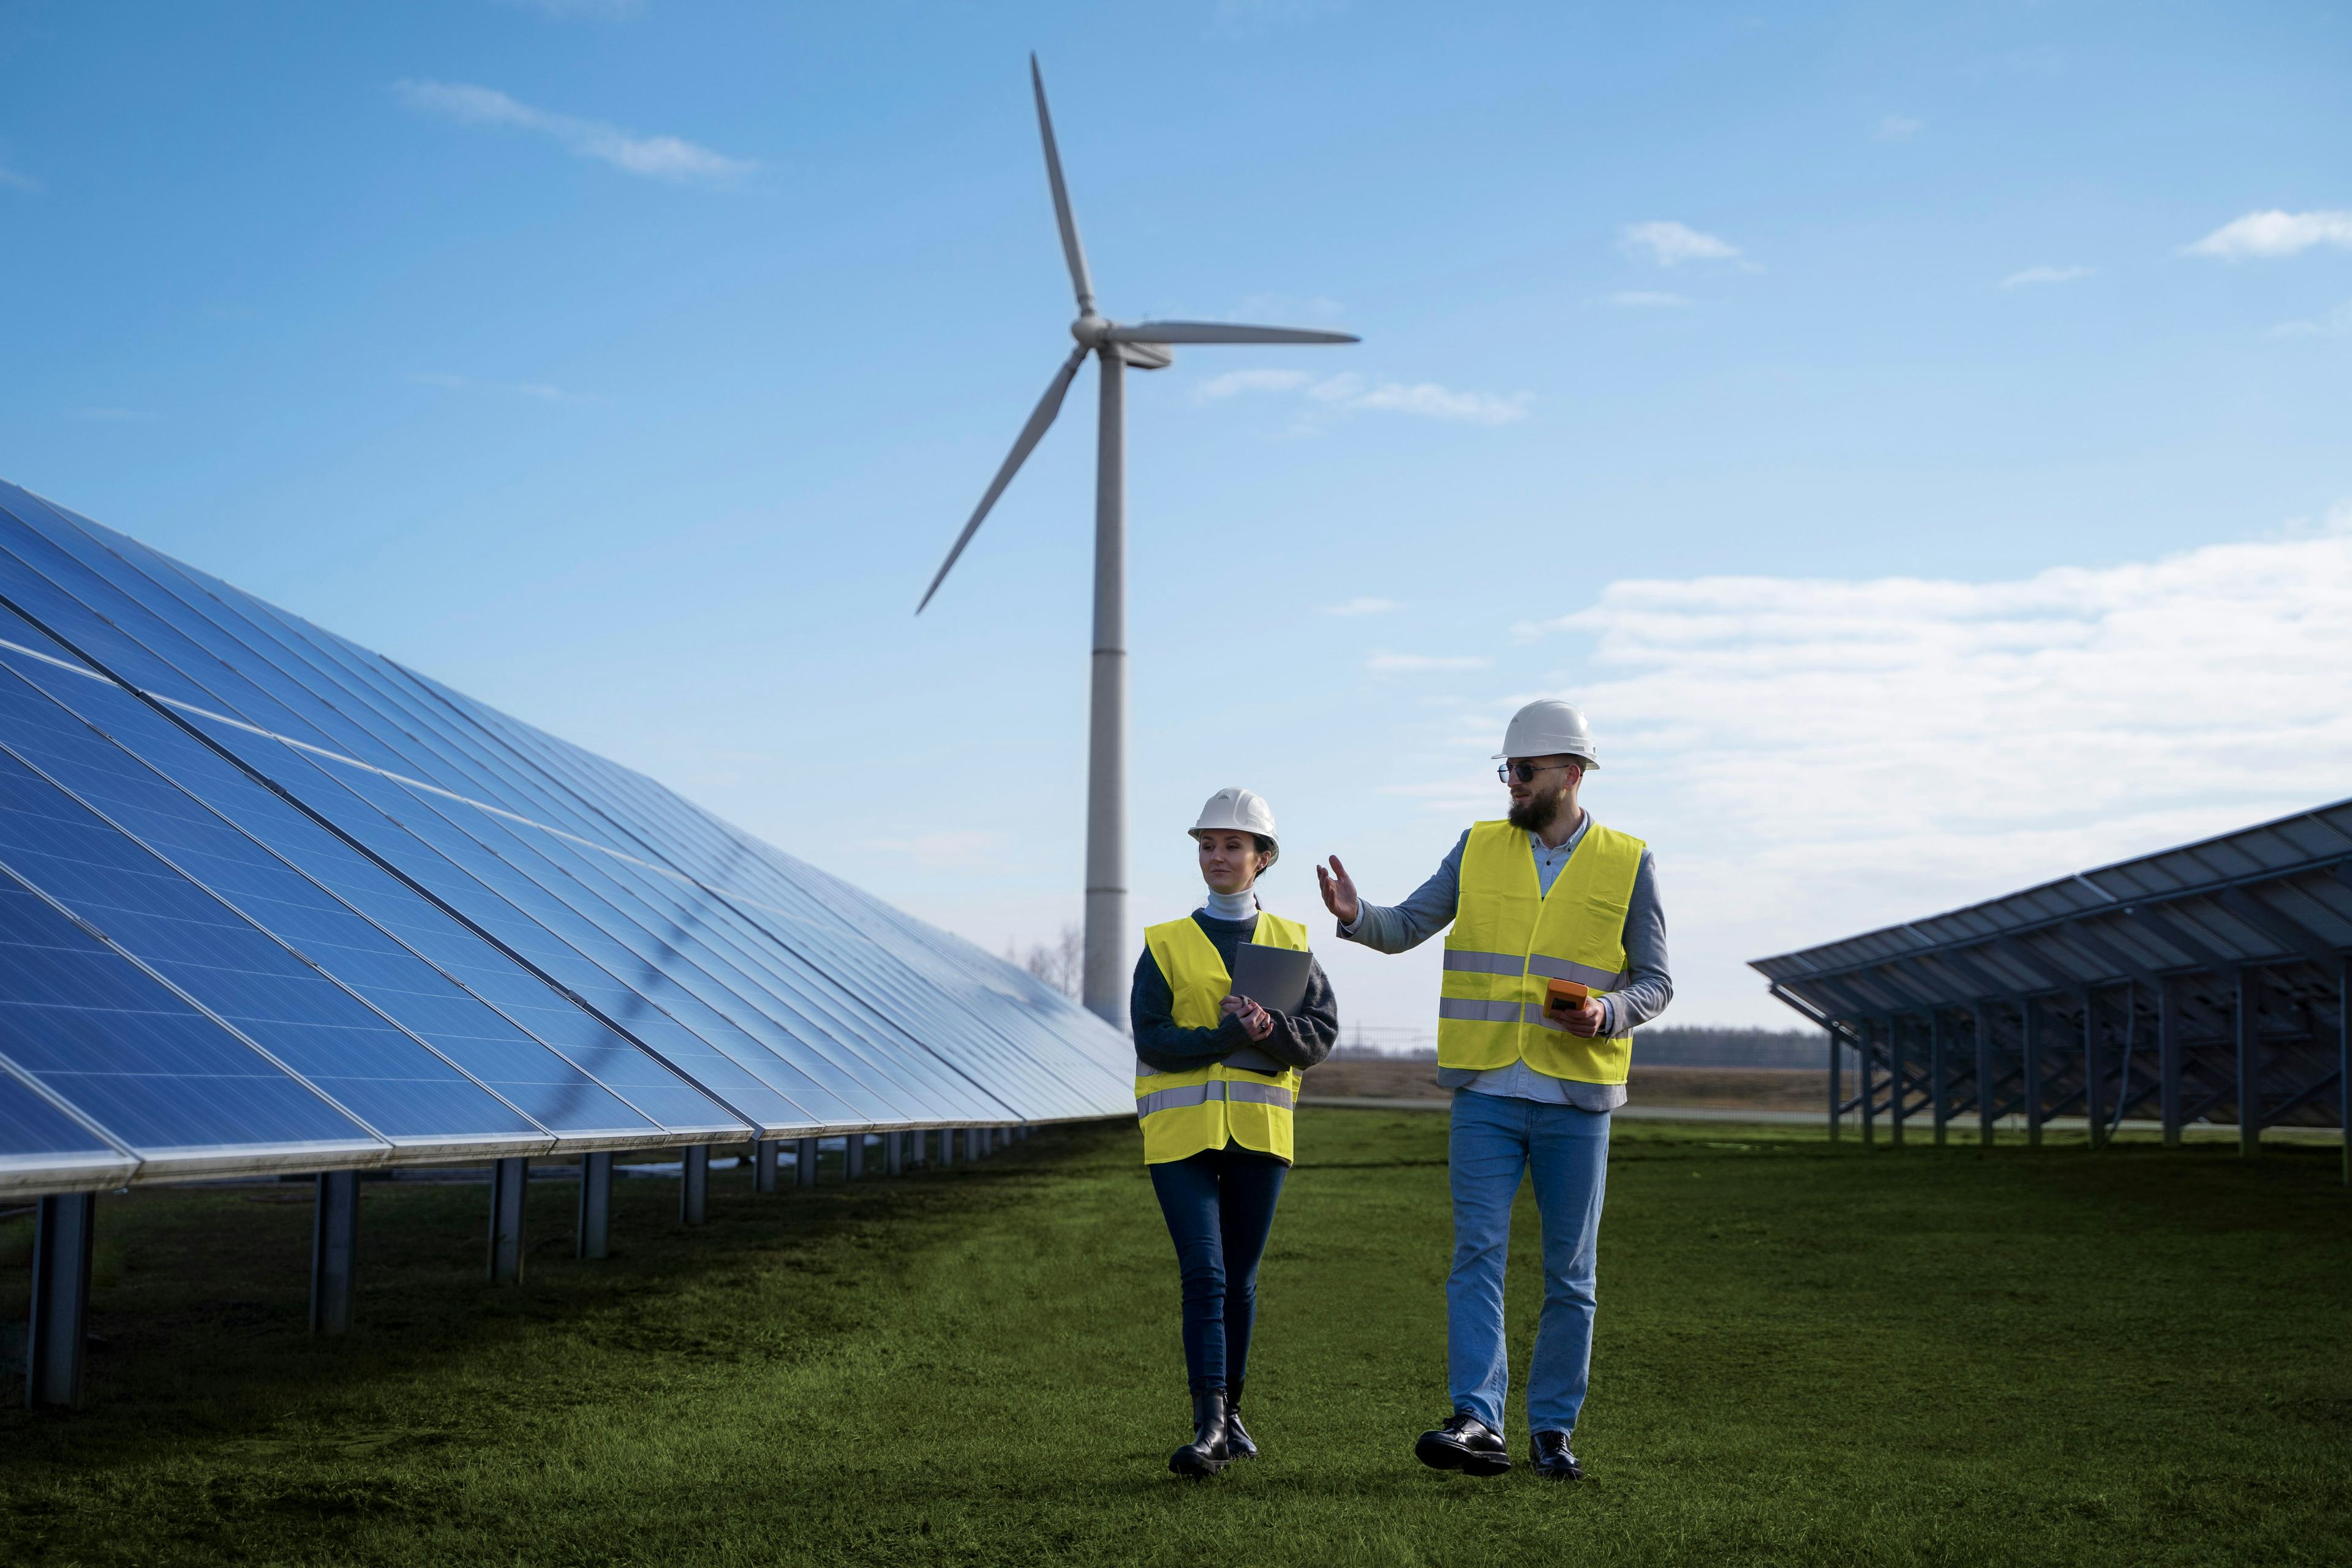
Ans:
POLYGON ((1510 1349, 1503 1260, 1519 1178, 1543 1218, 1543 1316, 1526 1368, 1529 1432, 1573 1432, 1592 1366, 1592 1262, 1609 1178, 1609 1117, 1573 1105, 1454 1093, 1454 1274, 1446 1276, 1446 1387, 1456 1410, 1503 1429, 1510 1349))

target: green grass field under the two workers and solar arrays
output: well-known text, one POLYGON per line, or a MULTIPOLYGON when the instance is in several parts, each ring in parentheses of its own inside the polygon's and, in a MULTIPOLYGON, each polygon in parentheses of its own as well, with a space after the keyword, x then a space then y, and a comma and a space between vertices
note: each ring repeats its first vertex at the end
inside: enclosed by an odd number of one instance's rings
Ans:
MULTIPOLYGON (((303 1335, 306 1190, 101 1199, 92 1406, 0 1413, 5 1563, 2343 1563, 2336 1150, 1896 1154, 1621 1124, 1581 1486, 1425 1472, 1444 1119, 1308 1110, 1263 1274, 1268 1458, 1185 1436, 1131 1128, 760 1199, 369 1185, 358 1328, 303 1335), (292 1201, 285 1201, 292 1199, 292 1201)), ((0 1227, 21 1314, 26 1222, 0 1227)), ((1534 1328, 1534 1211, 1512 1274, 1534 1328)), ((1512 1448, 1524 1432, 1512 1422, 1512 1448)))

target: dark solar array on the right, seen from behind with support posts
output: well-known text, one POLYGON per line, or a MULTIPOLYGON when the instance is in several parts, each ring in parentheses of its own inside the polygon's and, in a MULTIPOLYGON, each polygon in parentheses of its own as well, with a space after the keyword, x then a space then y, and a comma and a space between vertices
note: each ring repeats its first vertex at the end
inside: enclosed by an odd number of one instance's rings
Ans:
POLYGON ((2352 802, 1752 969, 1858 1048, 1858 1093, 1832 1077, 1832 1114, 1865 1126, 1915 1110, 1973 1110, 1987 1131, 2077 1112, 2166 1135, 2347 1126, 2352 802))

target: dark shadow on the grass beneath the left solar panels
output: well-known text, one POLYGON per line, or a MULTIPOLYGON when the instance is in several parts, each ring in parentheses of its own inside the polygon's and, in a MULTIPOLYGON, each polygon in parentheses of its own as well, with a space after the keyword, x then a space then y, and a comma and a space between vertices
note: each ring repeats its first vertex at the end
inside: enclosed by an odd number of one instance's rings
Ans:
POLYGON ((1108 1166, 1112 1143, 1105 1128, 1054 1128, 983 1164, 856 1185, 840 1185, 828 1161, 816 1190, 783 1185, 771 1197, 750 1190, 748 1168, 717 1171, 701 1227, 680 1222, 675 1180, 616 1175, 612 1255, 597 1262, 574 1258, 576 1182, 539 1178, 524 1204, 520 1286, 487 1281, 487 1180, 362 1182, 353 1331, 334 1340, 308 1333, 308 1185, 101 1194, 78 1413, 24 1410, 31 1215, 19 1215, 0 1222, 0 1260, 16 1262, 0 1286, 0 1321, 19 1352, 0 1387, 0 1479, 26 1465, 153 1462, 181 1446, 256 1465, 313 1443, 350 1455, 428 1446, 463 1432, 463 1410, 435 1429, 275 1432, 299 1406, 367 1410, 452 1368, 489 1375, 574 1352, 642 1352, 673 1366, 823 1354, 856 1331, 858 1291, 887 1286, 924 1246, 1033 1190, 1047 1168, 1084 1171, 1098 1145, 1108 1166), (764 1305, 757 1321, 720 1312, 696 1314, 691 1333, 652 1328, 659 1298, 760 1276, 807 1288, 764 1305))

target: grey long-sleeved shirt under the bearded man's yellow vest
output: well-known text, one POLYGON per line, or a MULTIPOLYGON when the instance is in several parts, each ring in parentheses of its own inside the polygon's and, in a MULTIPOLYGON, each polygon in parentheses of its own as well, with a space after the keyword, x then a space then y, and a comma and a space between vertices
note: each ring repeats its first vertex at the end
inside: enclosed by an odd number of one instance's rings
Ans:
MULTIPOLYGON (((1592 827, 1592 813, 1576 825, 1559 849, 1550 849, 1536 835, 1526 835, 1529 846, 1536 853, 1536 882, 1543 893, 1552 891, 1552 879, 1583 844, 1585 830, 1592 827)), ((1355 912, 1352 926, 1341 926, 1338 933, 1350 943, 1362 943, 1374 952, 1404 952, 1430 940, 1439 931, 1454 924, 1454 907, 1461 903, 1461 875, 1463 875, 1463 846, 1470 844, 1470 832, 1454 839, 1454 849, 1437 865, 1411 898, 1399 905, 1374 905, 1367 903, 1355 912)), ((1632 898, 1625 900, 1625 969, 1632 980, 1625 990, 1602 997, 1602 1009, 1609 1013, 1604 1032, 1625 1034, 1635 1025, 1649 1023, 1665 1011, 1665 1004, 1675 999, 1675 980, 1665 969, 1665 907, 1658 903, 1658 865, 1649 849, 1642 851, 1642 867, 1632 879, 1632 898)), ((1439 1067, 1437 1081, 1446 1088, 1468 1088, 1472 1093, 1510 1095, 1517 1100, 1545 1100, 1550 1105, 1576 1105, 1578 1110, 1609 1112, 1625 1103, 1623 1084, 1578 1084, 1573 1079, 1555 1079, 1536 1072, 1526 1063, 1512 1063, 1510 1067, 1494 1067, 1479 1072, 1472 1067, 1439 1067)))

